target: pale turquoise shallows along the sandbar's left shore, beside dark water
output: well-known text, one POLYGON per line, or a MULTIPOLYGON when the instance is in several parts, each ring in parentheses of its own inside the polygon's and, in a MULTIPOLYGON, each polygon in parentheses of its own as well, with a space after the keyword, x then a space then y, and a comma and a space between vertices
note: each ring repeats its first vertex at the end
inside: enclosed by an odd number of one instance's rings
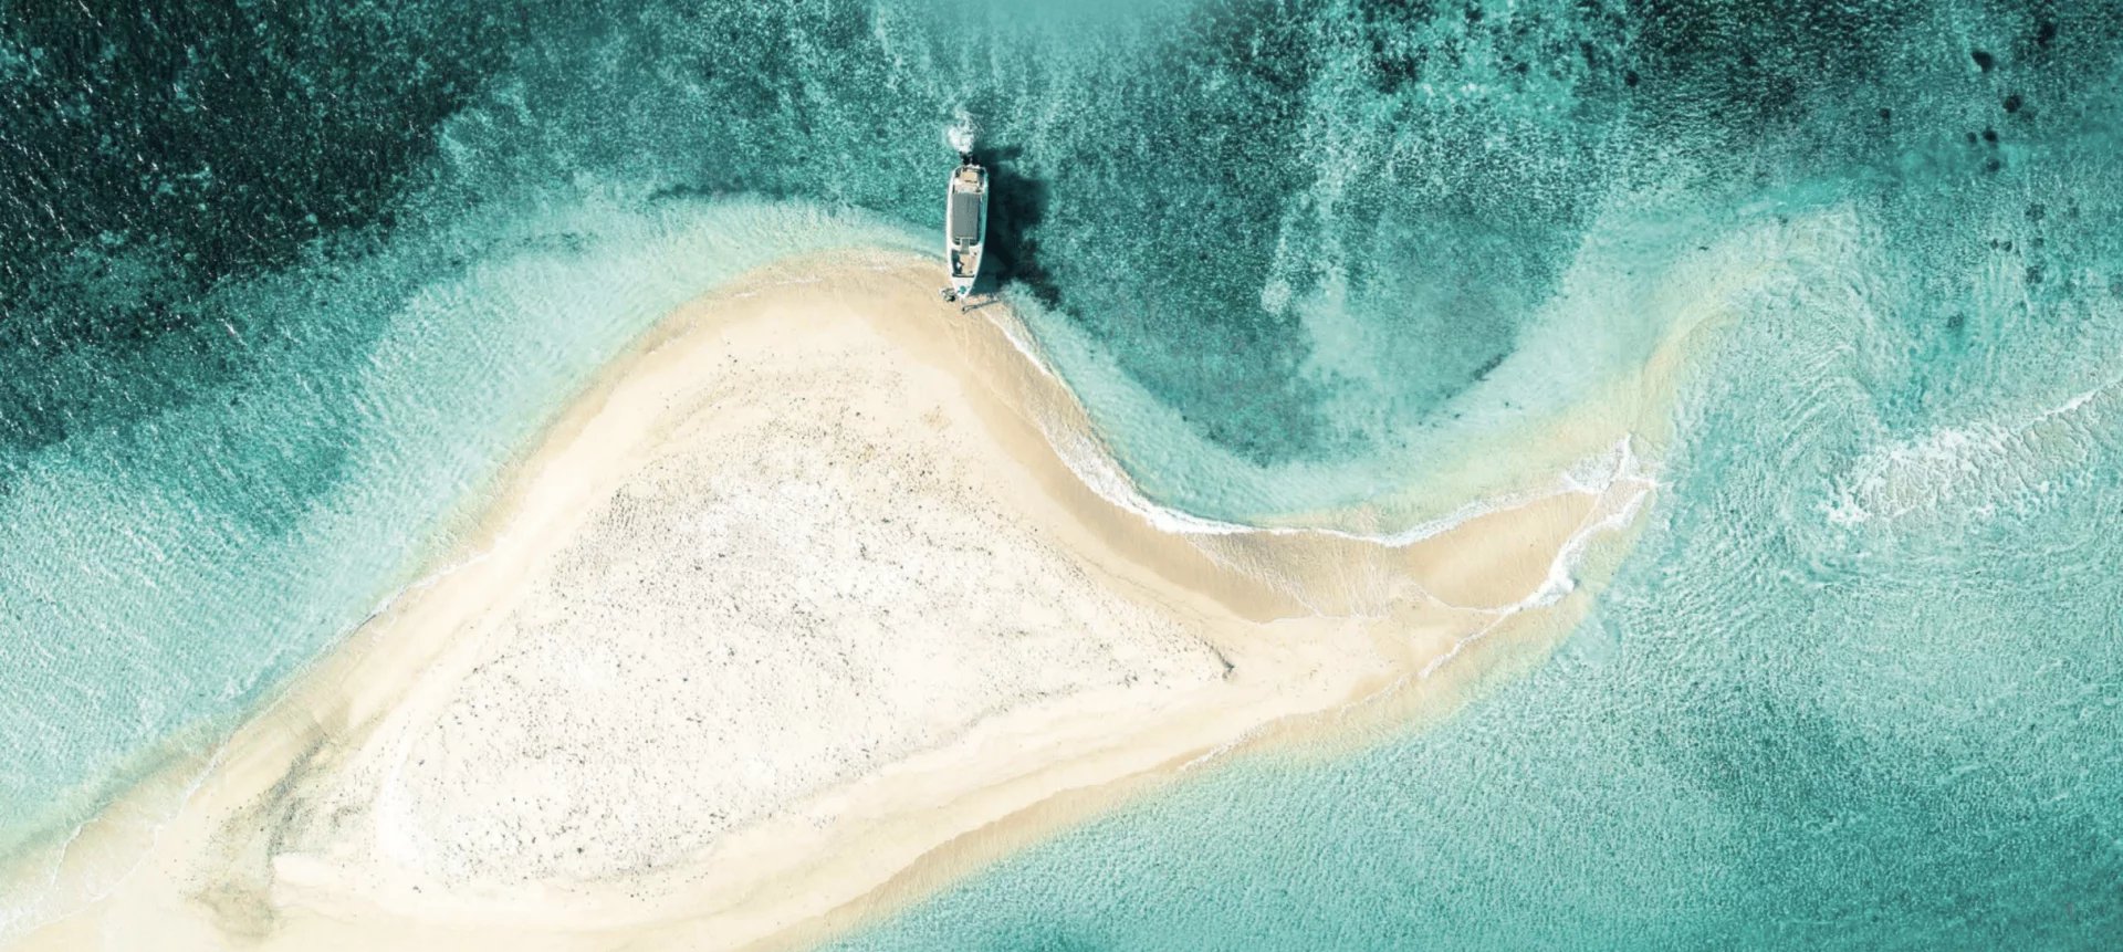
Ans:
POLYGON ((788 206, 567 202, 217 289, 206 306, 231 325, 214 332, 251 366, 91 382, 197 389, 13 461, 0 844, 212 744, 444 552, 450 516, 656 317, 775 257, 907 244, 788 206), (739 238, 756 232, 773 240, 739 238), (314 323, 263 323, 318 300, 314 323))

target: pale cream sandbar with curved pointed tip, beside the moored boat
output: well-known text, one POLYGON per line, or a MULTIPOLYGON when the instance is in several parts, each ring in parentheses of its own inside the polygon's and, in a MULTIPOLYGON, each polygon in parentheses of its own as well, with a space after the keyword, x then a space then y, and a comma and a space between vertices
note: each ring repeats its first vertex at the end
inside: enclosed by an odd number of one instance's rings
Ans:
POLYGON ((673 312, 431 576, 13 871, 4 948, 800 948, 1216 756, 1450 710, 1654 487, 1622 440, 1405 544, 1163 531, 934 283, 792 261, 673 312))

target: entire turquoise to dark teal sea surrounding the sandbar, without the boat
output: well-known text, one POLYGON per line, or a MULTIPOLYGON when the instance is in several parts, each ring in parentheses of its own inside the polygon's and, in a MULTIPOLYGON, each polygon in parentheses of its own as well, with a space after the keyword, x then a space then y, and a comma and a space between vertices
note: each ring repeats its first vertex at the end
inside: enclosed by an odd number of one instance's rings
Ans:
POLYGON ((926 249, 966 125, 1004 295, 1195 514, 1450 510, 1696 336, 1556 659, 849 948, 2123 933, 2115 4, 4 13, 0 848, 357 625, 656 314, 926 249))

